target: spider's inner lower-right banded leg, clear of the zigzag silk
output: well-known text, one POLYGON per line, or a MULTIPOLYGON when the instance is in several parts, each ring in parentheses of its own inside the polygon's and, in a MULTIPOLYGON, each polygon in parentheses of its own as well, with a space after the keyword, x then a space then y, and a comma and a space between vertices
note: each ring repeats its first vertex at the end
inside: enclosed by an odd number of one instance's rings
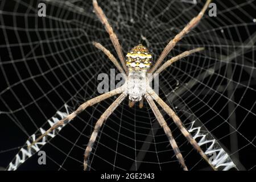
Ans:
POLYGON ((180 163, 181 167, 183 167, 183 170, 188 171, 188 168, 185 164, 183 156, 180 153, 179 147, 177 146, 177 143, 175 142, 175 139, 172 136, 170 127, 168 127, 166 121, 164 121, 163 115, 160 113, 158 107, 156 107, 155 102, 153 100, 151 100, 151 98, 148 98, 148 97, 150 97, 150 96, 146 95, 146 100, 147 100, 148 104, 150 105, 153 113, 155 114, 155 117, 158 120, 160 126, 163 127, 164 133, 166 133, 166 135, 170 141, 170 144, 171 144, 172 148, 174 149, 174 153, 176 155, 177 160, 179 160, 179 163, 180 163))

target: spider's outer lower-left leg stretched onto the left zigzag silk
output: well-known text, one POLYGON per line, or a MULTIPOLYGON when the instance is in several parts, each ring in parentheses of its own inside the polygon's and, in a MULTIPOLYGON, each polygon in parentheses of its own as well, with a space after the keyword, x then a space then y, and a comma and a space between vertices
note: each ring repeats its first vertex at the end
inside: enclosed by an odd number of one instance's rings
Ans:
POLYGON ((101 102, 109 97, 115 96, 119 93, 123 92, 123 87, 119 87, 115 90, 112 90, 108 93, 104 93, 100 96, 94 97, 89 101, 84 102, 84 104, 81 104, 77 110, 73 111, 73 113, 69 114, 67 117, 61 119, 60 121, 58 121, 57 123, 55 123, 55 125, 53 125, 50 129, 48 129, 46 131, 46 133, 44 133, 43 135, 41 135, 39 138, 37 138, 33 143, 31 143, 28 148, 30 148, 32 145, 34 145, 35 143, 37 143, 40 139, 42 139, 43 137, 45 137, 46 135, 48 135, 49 133, 51 133, 51 131, 55 130, 57 127, 64 125, 66 123, 68 123, 69 121, 71 121, 73 118, 75 118, 79 113, 81 113, 82 111, 84 111, 86 109, 86 107, 88 106, 92 106, 94 104, 97 104, 98 102, 101 102))

